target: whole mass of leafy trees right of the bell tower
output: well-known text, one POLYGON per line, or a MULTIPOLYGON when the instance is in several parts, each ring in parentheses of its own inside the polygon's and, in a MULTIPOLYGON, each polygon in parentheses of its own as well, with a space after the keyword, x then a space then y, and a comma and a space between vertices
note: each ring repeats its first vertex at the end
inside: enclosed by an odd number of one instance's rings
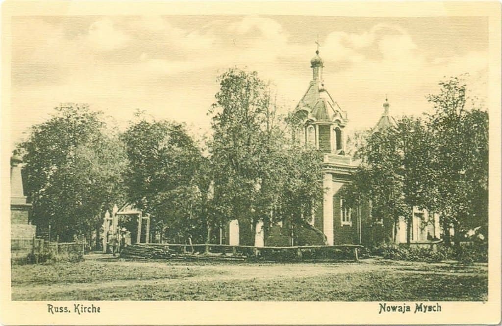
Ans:
POLYGON ((466 96, 462 77, 439 85, 428 96, 432 114, 403 117, 359 141, 361 165, 346 195, 352 203, 370 199, 384 223, 404 217, 408 241, 413 208, 437 212, 446 241, 453 227, 459 243, 470 229, 487 231, 488 116, 466 96))

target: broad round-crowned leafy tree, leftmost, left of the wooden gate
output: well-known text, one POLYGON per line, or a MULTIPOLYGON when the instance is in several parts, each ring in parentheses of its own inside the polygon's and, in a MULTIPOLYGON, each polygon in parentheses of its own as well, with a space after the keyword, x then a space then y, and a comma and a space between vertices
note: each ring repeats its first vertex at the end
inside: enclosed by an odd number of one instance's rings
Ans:
POLYGON ((34 125, 24 153, 26 192, 39 231, 63 241, 102 224, 101 213, 121 196, 123 148, 87 105, 65 104, 34 125))

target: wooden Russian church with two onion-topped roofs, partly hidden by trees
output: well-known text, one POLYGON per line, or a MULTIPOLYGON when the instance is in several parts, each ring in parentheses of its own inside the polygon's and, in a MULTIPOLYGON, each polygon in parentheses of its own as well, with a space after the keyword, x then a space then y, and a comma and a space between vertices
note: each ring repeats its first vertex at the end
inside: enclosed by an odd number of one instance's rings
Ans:
MULTIPOLYGON (((345 127, 349 120, 347 112, 329 94, 322 78, 324 62, 319 50, 310 61, 312 80, 307 91, 294 110, 298 122, 292 134, 295 141, 305 146, 313 146, 324 153, 322 167, 323 201, 315 210, 311 220, 311 229, 303 228, 295 234, 302 240, 295 245, 342 245, 362 244, 365 246, 392 239, 395 243, 407 242, 406 219, 400 219, 397 226, 386 228, 371 216, 371 201, 362 201, 359 207, 349 208, 344 205, 343 188, 351 182, 351 176, 357 169, 350 155, 346 154, 345 127), (324 238, 312 233, 312 229, 324 234, 324 238), (311 232, 310 236, 300 233, 311 232)), ((397 123, 389 113, 389 102, 385 101, 384 113, 375 124, 373 132, 386 128, 395 128, 397 123)), ((440 237, 437 214, 414 208, 411 219, 412 243, 430 243, 440 237)), ((289 236, 286 226, 269 228, 264 234, 263 223, 256 228, 255 246, 288 245, 284 238, 289 236), (281 238, 283 238, 281 240, 281 238)), ((239 241, 239 221, 231 221, 225 230, 226 243, 242 244, 239 241), (240 242, 240 243, 239 243, 240 242)), ((291 243, 289 243, 291 244, 291 243)))

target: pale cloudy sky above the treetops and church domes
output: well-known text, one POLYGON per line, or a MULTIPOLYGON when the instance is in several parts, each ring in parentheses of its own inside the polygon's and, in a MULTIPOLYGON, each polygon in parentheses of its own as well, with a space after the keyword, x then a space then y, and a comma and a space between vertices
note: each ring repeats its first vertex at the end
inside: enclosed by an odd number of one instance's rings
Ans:
POLYGON ((13 17, 12 140, 60 103, 87 103, 123 130, 137 109, 210 130, 216 77, 258 71, 283 112, 307 90, 319 40, 324 84, 348 113, 347 129, 372 127, 389 98, 395 116, 420 115, 444 76, 469 73, 487 96, 486 17, 29 16, 13 17))

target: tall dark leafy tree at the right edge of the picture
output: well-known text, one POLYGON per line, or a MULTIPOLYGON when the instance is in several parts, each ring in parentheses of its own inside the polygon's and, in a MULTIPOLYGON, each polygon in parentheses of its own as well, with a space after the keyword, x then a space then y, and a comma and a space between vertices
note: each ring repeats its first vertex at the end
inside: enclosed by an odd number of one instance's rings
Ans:
POLYGON ((428 125, 437 146, 437 174, 429 187, 438 193, 446 241, 453 226, 459 245, 469 229, 487 230, 488 115, 467 96, 464 76, 450 77, 439 85, 439 94, 428 96, 435 109, 428 125))

